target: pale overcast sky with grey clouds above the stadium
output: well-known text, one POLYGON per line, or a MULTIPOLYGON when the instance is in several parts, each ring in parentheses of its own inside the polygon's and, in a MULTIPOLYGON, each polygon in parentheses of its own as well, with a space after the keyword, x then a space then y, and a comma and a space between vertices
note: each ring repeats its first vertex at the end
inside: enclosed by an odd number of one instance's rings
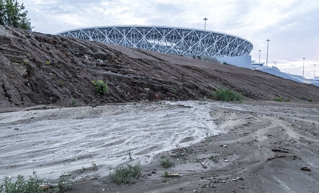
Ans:
POLYGON ((18 0, 33 30, 103 25, 169 25, 236 35, 253 44, 251 56, 282 72, 319 76, 319 1, 316 0, 18 0))

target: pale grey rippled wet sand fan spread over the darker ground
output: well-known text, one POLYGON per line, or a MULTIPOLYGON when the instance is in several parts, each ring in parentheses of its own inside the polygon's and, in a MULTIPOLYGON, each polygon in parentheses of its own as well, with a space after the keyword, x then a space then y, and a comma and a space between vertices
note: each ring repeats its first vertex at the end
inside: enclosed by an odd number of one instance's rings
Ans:
POLYGON ((216 135, 209 107, 200 102, 163 102, 54 108, 0 114, 1 178, 29 175, 57 178, 63 171, 104 166, 108 174, 129 159, 200 142, 216 135))

